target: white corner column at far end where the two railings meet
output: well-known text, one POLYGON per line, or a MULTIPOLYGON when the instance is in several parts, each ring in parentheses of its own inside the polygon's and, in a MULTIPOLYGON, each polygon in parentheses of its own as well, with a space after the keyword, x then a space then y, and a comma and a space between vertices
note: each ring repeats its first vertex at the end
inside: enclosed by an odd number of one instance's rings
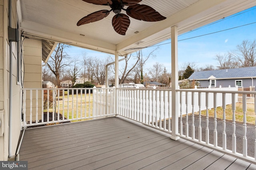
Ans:
POLYGON ((119 92, 118 92, 118 88, 119 88, 119 67, 118 67, 118 64, 119 64, 119 62, 118 62, 118 51, 116 51, 116 53, 115 53, 115 86, 116 86, 116 96, 115 96, 115 98, 116 98, 116 103, 115 103, 115 111, 116 111, 116 115, 118 114, 118 108, 119 108, 119 105, 118 105, 118 102, 119 102, 119 98, 118 98, 118 94, 119 94, 119 92))

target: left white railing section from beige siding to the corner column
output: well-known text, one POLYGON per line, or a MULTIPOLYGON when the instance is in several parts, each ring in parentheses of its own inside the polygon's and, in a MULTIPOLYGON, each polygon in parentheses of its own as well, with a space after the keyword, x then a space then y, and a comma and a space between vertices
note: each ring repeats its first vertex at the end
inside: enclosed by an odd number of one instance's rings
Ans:
POLYGON ((115 115, 114 90, 112 88, 24 88, 22 89, 22 127, 113 116, 115 115))

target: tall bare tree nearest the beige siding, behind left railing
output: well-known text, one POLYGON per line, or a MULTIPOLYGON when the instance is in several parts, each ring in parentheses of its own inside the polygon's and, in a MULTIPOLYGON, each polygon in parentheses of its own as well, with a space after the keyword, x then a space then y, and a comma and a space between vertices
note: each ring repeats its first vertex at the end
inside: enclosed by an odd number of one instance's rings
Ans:
POLYGON ((64 67, 72 63, 72 61, 70 61, 70 57, 64 50, 67 47, 69 46, 59 43, 46 63, 50 71, 54 74, 58 87, 60 87, 60 76, 64 71, 64 67))

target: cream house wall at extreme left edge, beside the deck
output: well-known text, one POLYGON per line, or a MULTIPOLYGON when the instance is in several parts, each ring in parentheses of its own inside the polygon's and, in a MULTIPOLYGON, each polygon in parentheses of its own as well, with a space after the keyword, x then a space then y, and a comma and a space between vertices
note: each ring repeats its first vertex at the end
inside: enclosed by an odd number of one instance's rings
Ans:
MULTIPOLYGON (((17 27, 16 0, 12 1, 12 27, 17 27)), ((0 109, 4 110, 3 127, 4 135, 0 136, 0 160, 8 160, 8 135, 9 135, 9 77, 10 77, 10 54, 8 41, 8 0, 0 0, 0 109)), ((21 102, 20 85, 17 80, 17 43, 13 42, 12 47, 12 146, 11 155, 16 154, 21 127, 21 102)))

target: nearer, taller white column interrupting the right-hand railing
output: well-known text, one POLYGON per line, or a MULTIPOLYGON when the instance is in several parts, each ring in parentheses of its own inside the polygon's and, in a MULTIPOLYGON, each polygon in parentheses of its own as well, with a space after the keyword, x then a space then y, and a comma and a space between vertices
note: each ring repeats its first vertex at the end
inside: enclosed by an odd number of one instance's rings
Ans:
POLYGON ((178 140, 178 27, 171 27, 171 54, 172 54, 172 136, 171 139, 178 140))

